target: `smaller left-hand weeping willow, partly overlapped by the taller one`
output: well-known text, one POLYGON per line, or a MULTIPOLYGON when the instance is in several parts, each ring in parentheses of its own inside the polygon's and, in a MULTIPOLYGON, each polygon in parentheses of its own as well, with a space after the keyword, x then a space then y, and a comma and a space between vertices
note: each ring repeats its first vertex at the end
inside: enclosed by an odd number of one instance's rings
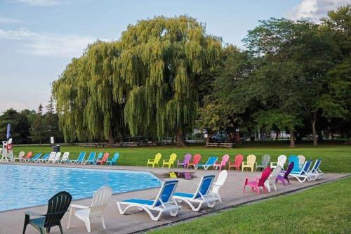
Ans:
POLYGON ((123 140, 127 87, 114 78, 117 42, 96 41, 53 83, 60 128, 65 141, 123 140))

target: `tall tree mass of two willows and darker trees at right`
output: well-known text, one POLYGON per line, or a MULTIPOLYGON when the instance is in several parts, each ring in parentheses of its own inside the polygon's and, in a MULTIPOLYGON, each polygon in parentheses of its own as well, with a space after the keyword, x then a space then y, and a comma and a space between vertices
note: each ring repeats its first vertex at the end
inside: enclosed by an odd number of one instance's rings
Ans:
POLYGON ((312 134, 350 136, 351 6, 319 23, 270 18, 223 44, 187 15, 128 25, 95 41, 53 83, 65 141, 157 140, 195 127, 287 131, 291 147, 312 134))

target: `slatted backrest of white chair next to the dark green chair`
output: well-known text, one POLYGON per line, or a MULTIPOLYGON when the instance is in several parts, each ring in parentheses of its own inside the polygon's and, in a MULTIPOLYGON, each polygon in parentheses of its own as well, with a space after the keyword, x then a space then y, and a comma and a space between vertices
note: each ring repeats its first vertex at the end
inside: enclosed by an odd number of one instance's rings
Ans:
POLYGON ((90 217, 100 216, 112 197, 112 188, 110 186, 102 186, 93 195, 91 202, 90 217))

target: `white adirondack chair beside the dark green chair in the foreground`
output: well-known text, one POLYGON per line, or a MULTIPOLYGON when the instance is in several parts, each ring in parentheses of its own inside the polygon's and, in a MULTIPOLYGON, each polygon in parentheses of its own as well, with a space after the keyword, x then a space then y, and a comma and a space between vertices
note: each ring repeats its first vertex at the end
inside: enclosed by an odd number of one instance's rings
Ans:
POLYGON ((93 196, 93 202, 91 206, 87 207, 81 204, 71 204, 71 209, 69 211, 68 226, 72 219, 72 215, 77 216, 78 219, 81 219, 86 224, 86 230, 88 233, 91 232, 90 219, 100 217, 102 222, 102 227, 106 229, 105 221, 102 216, 102 212, 107 207, 107 204, 110 201, 112 196, 112 188, 110 186, 102 186, 99 188, 93 196))

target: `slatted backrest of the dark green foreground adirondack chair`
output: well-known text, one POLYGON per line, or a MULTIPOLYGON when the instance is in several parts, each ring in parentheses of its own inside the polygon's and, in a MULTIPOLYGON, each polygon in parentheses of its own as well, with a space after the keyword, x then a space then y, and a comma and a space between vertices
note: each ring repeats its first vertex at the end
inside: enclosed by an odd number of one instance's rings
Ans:
POLYGON ((71 204, 72 195, 67 192, 60 192, 48 200, 48 212, 45 215, 44 227, 51 227, 60 224, 62 217, 71 204))

